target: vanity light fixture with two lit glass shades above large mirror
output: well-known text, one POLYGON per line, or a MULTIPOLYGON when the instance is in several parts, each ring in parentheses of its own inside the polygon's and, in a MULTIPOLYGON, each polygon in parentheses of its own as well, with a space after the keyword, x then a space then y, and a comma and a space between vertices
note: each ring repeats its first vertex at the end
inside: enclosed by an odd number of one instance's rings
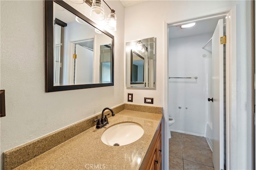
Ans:
MULTIPOLYGON (((91 12, 90 12, 90 16, 94 19, 94 20, 104 20, 105 19, 105 14, 104 14, 104 6, 103 6, 103 2, 108 6, 108 4, 104 1, 104 0, 83 0, 86 4, 88 4, 89 6, 91 6, 91 12)), ((108 15, 108 18, 106 20, 106 28, 110 31, 116 31, 116 14, 115 14, 115 10, 113 10, 112 8, 110 8, 110 6, 108 6, 108 8, 110 9, 110 14, 108 15)))

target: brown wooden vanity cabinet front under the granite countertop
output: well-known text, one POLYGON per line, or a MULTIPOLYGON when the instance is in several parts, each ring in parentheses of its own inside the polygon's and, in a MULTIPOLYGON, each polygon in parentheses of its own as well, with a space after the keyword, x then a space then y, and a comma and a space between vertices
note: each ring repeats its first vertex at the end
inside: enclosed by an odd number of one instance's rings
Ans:
POLYGON ((161 170, 162 169, 162 149, 161 149, 161 124, 159 125, 145 162, 140 169, 142 170, 161 170))

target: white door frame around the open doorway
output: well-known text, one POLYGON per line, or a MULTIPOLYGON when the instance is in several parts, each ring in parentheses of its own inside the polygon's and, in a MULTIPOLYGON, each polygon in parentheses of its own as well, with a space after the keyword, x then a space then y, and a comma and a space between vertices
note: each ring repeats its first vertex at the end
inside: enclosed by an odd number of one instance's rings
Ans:
MULTIPOLYGON (((164 150, 169 150, 168 139, 168 26, 192 21, 202 21, 226 16, 226 169, 237 167, 237 110, 236 110, 236 5, 195 18, 180 21, 164 21, 164 150), (231 57, 232 56, 232 57, 231 57), (232 140, 233 139, 233 140, 232 140), (232 141, 232 145, 231 145, 232 141)), ((169 168, 169 153, 164 152, 164 169, 169 168)))

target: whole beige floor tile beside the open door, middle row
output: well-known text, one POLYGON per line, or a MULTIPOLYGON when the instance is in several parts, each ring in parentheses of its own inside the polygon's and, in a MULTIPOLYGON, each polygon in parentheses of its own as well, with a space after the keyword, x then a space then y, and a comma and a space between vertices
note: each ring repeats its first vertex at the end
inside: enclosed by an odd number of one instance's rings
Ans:
POLYGON ((212 151, 210 149, 192 145, 182 145, 182 147, 183 159, 213 167, 212 151))

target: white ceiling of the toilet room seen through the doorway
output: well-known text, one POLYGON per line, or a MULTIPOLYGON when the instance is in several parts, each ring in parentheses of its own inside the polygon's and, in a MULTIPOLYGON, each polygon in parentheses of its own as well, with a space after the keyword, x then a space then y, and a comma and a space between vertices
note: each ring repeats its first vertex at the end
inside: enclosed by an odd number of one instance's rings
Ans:
POLYGON ((196 22, 196 25, 189 28, 181 28, 180 26, 170 26, 169 39, 213 33, 219 19, 220 18, 214 18, 211 20, 199 21, 196 22))

